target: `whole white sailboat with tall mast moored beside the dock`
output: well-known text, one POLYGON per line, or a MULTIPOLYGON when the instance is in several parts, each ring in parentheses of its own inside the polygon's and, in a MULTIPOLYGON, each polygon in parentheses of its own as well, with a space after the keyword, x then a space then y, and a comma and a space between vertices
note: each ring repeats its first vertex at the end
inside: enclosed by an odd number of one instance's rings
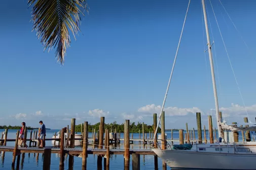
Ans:
MULTIPOLYGON (((207 15, 205 10, 205 0, 202 1, 202 8, 203 8, 203 16, 204 16, 204 23, 205 23, 205 30, 207 35, 207 46, 208 46, 208 54, 209 54, 209 61, 211 67, 211 77, 212 77, 212 85, 213 85, 213 93, 215 99, 215 111, 216 111, 216 118, 217 118, 217 130, 219 140, 216 143, 207 143, 207 144, 199 144, 196 143, 192 146, 191 149, 182 150, 178 149, 178 147, 173 147, 170 149, 161 149, 155 148, 152 149, 162 160, 166 162, 173 169, 256 169, 256 142, 240 142, 240 143, 228 143, 224 140, 223 130, 230 130, 233 132, 240 131, 240 130, 249 130, 249 131, 256 131, 255 124, 249 127, 238 127, 236 125, 228 125, 225 121, 223 121, 219 117, 219 107, 218 107, 218 98, 217 98, 217 90, 215 84, 215 76, 214 76, 214 67, 213 67, 213 60, 212 60, 212 52, 211 52, 211 42, 208 30, 208 23, 207 23, 207 15)), ((189 1, 190 5, 190 1, 189 1)), ((189 10, 189 5, 187 9, 186 17, 189 10)), ((184 21, 184 25, 185 25, 184 21)), ((182 27, 182 31, 179 38, 178 47, 180 44, 182 32, 184 29, 184 25, 182 27)), ((162 116, 162 111, 164 109, 165 100, 167 97, 176 56, 178 53, 178 47, 169 79, 169 83, 167 86, 166 94, 164 97, 163 105, 161 108, 157 128, 160 123, 160 119, 162 116)), ((249 125, 249 124, 248 124, 249 125)), ((157 129, 156 128, 156 129, 157 129)), ((157 131, 155 132, 154 139, 156 138, 157 131)), ((182 147, 181 147, 182 148, 182 147)))

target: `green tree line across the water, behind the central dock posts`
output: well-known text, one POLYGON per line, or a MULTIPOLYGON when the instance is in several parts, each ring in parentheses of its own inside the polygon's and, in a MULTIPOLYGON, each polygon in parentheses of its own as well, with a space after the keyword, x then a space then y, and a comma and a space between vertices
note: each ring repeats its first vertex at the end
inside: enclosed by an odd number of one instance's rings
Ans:
MULTIPOLYGON (((99 130, 99 124, 100 123, 97 123, 94 125, 88 124, 88 131, 92 132, 92 129, 95 129, 95 131, 97 132, 99 130)), ((83 127, 84 127, 84 125, 83 125, 83 127)), ((105 129, 108 129, 109 132, 111 132, 111 130, 113 130, 113 132, 115 132, 115 129, 117 129, 117 132, 124 133, 124 124, 117 124, 117 122, 114 121, 111 124, 104 124, 104 132, 105 132, 105 129)), ((139 130, 140 130, 140 133, 142 133, 142 123, 138 122, 137 125, 135 124, 135 122, 130 123, 130 133, 139 133, 139 130)), ((144 133, 149 133, 150 131, 152 132, 153 130, 154 130, 153 125, 144 124, 144 133)), ((81 132, 81 124, 76 125, 75 131, 81 132)), ((82 130, 82 132, 83 131, 84 131, 84 129, 82 130)), ((157 132, 158 133, 161 132, 160 127, 158 127, 157 132)))

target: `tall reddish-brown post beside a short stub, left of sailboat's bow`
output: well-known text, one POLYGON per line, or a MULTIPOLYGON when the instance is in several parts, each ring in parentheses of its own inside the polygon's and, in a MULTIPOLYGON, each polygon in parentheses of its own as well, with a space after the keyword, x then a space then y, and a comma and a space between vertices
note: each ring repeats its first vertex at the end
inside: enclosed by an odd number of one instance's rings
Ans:
POLYGON ((129 120, 125 120, 125 124, 124 124, 124 166, 125 167, 129 167, 129 159, 130 159, 130 121, 129 120))

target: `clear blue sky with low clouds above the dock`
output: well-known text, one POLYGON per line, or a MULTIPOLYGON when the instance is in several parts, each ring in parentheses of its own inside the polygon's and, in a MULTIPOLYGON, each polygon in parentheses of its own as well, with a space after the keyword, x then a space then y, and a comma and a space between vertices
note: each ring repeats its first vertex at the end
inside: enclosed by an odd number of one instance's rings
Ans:
MULTIPOLYGON (((152 113, 163 101, 188 1, 88 1, 89 15, 82 19, 77 41, 72 38, 64 66, 56 62, 54 49, 43 52, 31 32, 31 9, 26 3, 0 5, 0 125, 25 121, 36 127, 43 120, 49 128, 61 128, 72 117, 78 123, 96 123, 102 115, 107 123, 131 119, 152 124, 152 113)), ((221 4, 212 1, 254 122, 256 2, 222 3, 239 32, 221 4)), ((209 1, 206 5, 215 42, 220 107, 228 120, 241 122, 246 116, 243 102, 209 1)), ((186 122, 195 127, 198 110, 207 125, 214 98, 204 41, 201 1, 193 0, 167 97, 166 128, 185 128, 186 122)))

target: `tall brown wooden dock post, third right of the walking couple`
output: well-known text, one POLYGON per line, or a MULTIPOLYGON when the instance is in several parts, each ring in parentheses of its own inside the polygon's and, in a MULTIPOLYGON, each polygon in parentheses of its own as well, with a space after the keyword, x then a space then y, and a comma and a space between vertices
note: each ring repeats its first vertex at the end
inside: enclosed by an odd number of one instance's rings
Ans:
POLYGON ((83 139, 83 155, 82 155, 82 169, 86 169, 87 163, 87 148, 88 148, 88 122, 84 123, 84 139, 83 139))

